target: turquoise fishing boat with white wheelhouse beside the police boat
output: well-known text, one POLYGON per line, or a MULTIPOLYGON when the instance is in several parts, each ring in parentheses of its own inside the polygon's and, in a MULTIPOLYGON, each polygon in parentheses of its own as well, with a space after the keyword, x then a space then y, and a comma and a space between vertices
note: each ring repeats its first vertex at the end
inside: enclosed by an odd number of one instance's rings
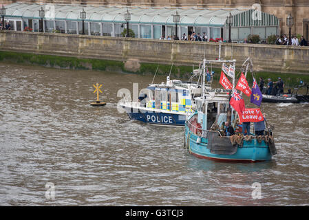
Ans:
MULTIPOLYGON (((208 62, 211 61, 204 61, 204 68, 208 62)), ((235 65, 235 61, 217 62, 235 65)), ((277 151, 271 129, 259 136, 224 135, 222 123, 233 122, 236 117, 229 105, 229 98, 226 93, 205 92, 195 98, 196 111, 185 123, 184 146, 195 157, 224 162, 262 162, 272 159, 277 151)))

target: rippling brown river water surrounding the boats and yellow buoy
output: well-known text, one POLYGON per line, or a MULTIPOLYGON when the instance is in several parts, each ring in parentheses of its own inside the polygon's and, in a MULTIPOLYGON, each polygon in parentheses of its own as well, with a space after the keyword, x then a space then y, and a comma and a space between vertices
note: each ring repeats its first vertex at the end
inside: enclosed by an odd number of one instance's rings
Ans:
POLYGON ((183 148, 183 128, 118 113, 118 89, 152 79, 0 63, 0 205, 309 205, 308 103, 262 103, 275 124, 272 161, 213 162, 183 148), (105 107, 89 105, 94 83, 105 107))

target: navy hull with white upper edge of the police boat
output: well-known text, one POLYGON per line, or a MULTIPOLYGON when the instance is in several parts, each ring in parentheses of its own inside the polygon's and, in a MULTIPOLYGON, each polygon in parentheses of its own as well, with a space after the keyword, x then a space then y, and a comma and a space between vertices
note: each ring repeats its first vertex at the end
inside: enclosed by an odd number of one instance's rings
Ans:
POLYGON ((131 120, 138 120, 148 124, 164 126, 184 126, 186 113, 162 111, 160 109, 147 109, 136 107, 131 104, 120 104, 131 120))

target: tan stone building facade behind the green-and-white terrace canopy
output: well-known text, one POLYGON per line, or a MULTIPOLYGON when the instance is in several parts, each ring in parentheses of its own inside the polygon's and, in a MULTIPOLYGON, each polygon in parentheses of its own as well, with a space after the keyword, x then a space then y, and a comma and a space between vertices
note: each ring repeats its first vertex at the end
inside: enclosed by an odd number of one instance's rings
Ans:
MULTIPOLYGON (((8 4, 18 0, 3 0, 8 4)), ((262 12, 274 14, 280 21, 279 30, 288 33, 286 17, 291 14, 295 19, 292 34, 302 34, 309 39, 309 1, 308 0, 21 0, 19 2, 34 3, 74 3, 87 5, 128 5, 151 7, 179 8, 239 8, 248 10, 259 7, 262 12), (255 5, 255 6, 254 6, 255 5)))

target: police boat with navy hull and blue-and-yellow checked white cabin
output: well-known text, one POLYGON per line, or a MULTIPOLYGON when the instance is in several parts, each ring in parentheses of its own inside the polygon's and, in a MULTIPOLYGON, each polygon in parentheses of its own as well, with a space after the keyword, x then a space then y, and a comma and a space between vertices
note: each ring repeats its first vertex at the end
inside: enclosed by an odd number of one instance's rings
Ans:
MULTIPOLYGON (((193 76, 201 75, 201 69, 193 70, 193 76)), ((204 85, 210 89, 209 85, 204 85)), ((149 124, 184 126, 188 113, 195 107, 194 98, 201 96, 202 85, 181 80, 170 80, 167 83, 151 84, 143 89, 137 101, 124 101, 120 106, 131 120, 149 124)))

